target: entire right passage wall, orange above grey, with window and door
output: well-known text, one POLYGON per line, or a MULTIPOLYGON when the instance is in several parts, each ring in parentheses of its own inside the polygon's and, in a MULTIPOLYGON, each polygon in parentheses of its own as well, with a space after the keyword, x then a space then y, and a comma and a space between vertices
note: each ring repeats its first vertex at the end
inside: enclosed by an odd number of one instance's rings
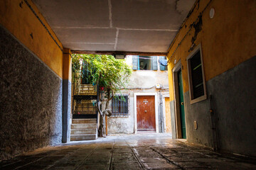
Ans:
POLYGON ((183 23, 168 54, 177 138, 255 156, 255 6, 197 1, 183 23))

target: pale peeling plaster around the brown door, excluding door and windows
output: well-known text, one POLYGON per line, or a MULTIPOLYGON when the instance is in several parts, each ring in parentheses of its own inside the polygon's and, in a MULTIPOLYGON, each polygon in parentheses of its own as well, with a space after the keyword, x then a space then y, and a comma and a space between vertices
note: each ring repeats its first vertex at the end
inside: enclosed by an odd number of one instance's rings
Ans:
MULTIPOLYGON (((132 56, 127 56, 126 62, 132 65, 132 56)), ((129 88, 149 88, 150 89, 129 89, 122 90, 122 94, 129 94, 129 117, 107 118, 108 134, 116 133, 134 133, 134 93, 157 93, 158 115, 159 115, 159 132, 162 132, 161 114, 160 114, 160 98, 159 89, 156 89, 156 84, 161 84, 166 90, 161 91, 161 95, 169 94, 168 91, 168 72, 167 71, 152 71, 152 70, 137 70, 132 72, 132 77, 129 81, 129 88)))

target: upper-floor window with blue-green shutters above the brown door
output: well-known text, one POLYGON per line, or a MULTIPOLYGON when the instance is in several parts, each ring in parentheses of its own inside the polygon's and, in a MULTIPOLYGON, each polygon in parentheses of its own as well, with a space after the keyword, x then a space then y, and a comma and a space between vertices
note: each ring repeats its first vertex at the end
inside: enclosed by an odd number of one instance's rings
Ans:
POLYGON ((157 56, 132 56, 132 69, 134 70, 157 70, 157 56))

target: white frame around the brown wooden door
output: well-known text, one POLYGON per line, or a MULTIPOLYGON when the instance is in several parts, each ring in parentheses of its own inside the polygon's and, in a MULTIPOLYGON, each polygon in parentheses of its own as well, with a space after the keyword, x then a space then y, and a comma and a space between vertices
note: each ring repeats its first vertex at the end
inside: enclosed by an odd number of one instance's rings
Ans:
POLYGON ((137 96, 154 96, 154 98, 155 98, 156 133, 159 133, 157 93, 134 93, 134 133, 137 134, 137 96))

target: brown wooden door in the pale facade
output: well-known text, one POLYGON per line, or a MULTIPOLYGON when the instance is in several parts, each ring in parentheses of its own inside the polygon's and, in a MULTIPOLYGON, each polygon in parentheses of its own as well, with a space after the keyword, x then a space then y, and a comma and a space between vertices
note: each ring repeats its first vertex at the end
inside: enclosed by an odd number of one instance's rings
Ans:
POLYGON ((156 132, 155 96, 137 96, 137 131, 156 132))

